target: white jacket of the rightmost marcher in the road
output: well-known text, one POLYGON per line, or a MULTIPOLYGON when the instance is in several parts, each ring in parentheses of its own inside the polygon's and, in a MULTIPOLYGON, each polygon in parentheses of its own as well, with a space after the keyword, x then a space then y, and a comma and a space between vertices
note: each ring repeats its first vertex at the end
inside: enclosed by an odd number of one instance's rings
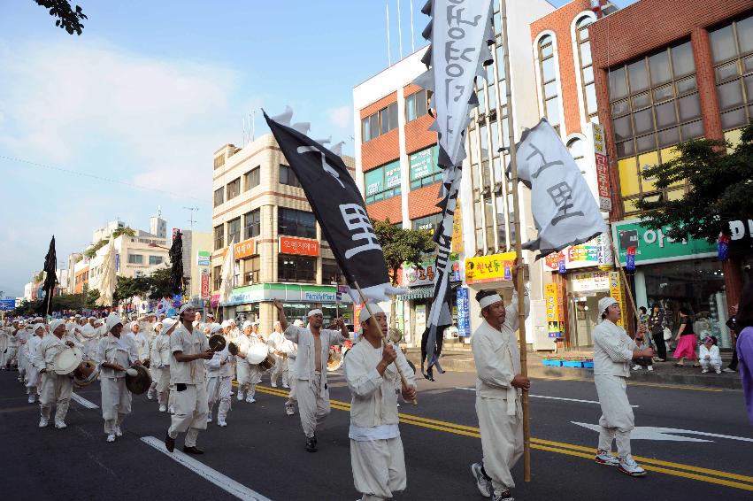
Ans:
POLYGON ((630 377, 630 362, 637 349, 624 328, 603 320, 594 328, 594 375, 630 377))

